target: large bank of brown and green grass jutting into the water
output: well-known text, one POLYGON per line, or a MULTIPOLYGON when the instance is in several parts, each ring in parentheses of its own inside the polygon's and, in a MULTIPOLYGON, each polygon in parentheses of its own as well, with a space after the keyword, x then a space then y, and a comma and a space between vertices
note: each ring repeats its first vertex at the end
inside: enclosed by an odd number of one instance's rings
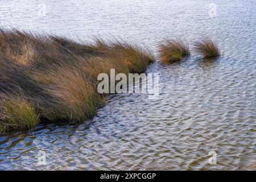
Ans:
POLYGON ((142 73, 154 61, 148 47, 133 42, 78 43, 0 29, 0 133, 40 122, 82 122, 107 96, 97 92, 99 73, 142 73))

